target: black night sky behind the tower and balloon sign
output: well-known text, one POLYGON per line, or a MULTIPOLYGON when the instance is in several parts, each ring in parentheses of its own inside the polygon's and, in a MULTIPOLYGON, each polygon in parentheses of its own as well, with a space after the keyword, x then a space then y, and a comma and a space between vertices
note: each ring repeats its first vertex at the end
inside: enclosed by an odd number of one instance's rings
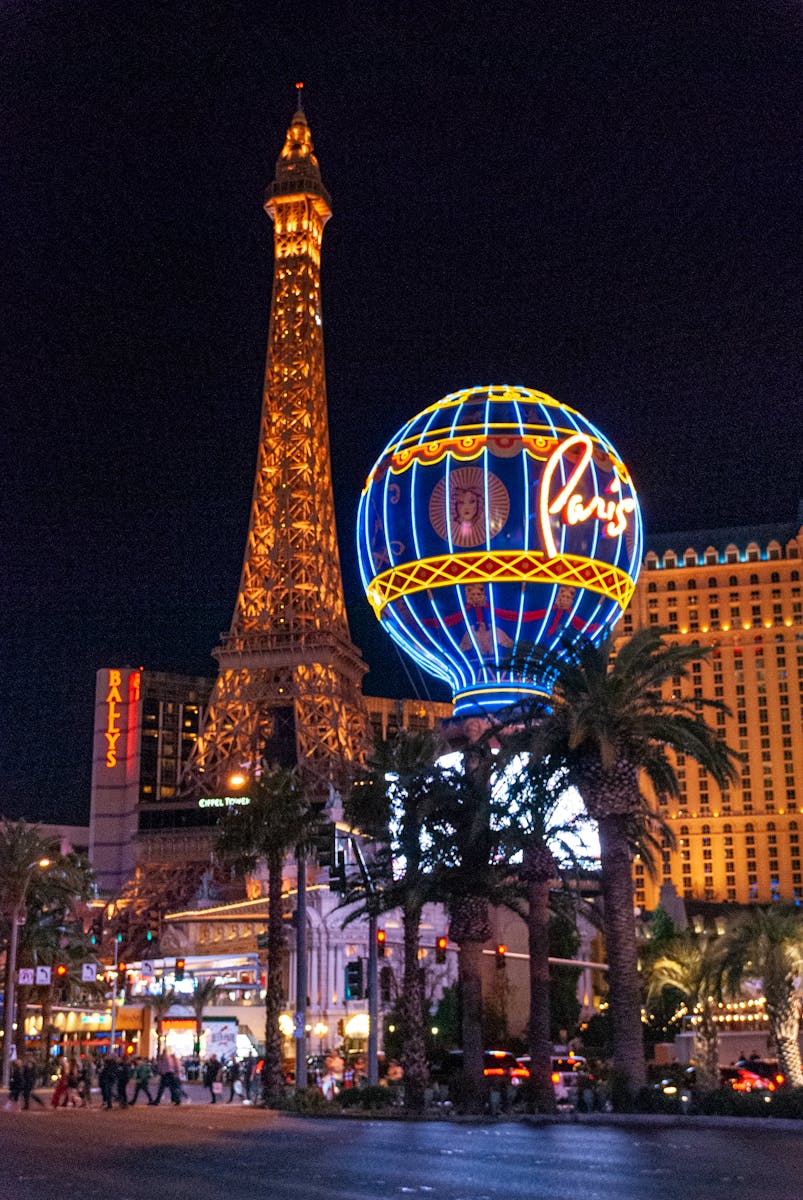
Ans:
POLYGON ((449 391, 579 408, 648 533, 793 520, 802 43, 773 0, 5 0, 0 812, 88 820, 98 667, 214 674, 296 79, 367 691, 413 694, 359 587, 359 492, 449 391))

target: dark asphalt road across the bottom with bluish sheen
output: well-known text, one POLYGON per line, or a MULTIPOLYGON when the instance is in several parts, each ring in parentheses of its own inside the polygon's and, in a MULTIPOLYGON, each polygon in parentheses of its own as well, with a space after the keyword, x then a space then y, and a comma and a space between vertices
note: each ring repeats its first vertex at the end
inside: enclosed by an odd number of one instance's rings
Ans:
POLYGON ((0 1111, 1 1200, 799 1200, 801 1134, 0 1111))

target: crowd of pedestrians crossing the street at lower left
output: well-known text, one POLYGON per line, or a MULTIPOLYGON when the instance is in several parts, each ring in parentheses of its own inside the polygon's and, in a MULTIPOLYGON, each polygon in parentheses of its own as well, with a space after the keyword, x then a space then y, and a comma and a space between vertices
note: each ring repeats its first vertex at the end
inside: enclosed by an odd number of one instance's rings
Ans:
MULTIPOLYGON (((230 1104, 235 1099, 251 1104, 258 1067, 253 1055, 242 1061, 232 1058, 224 1062, 212 1054, 200 1068, 200 1080, 209 1090, 212 1104, 218 1100, 230 1104), (229 1094, 224 1099, 227 1087, 229 1094)), ((30 1109, 31 1103, 41 1108, 49 1103, 54 1109, 90 1108, 92 1093, 98 1091, 104 1109, 133 1108, 140 1098, 143 1104, 155 1106, 166 1093, 170 1104, 190 1103, 184 1064, 170 1050, 163 1050, 156 1060, 119 1055, 62 1060, 55 1081, 46 1080, 46 1084, 49 1082, 53 1088, 49 1102, 46 1102, 37 1093, 37 1086, 43 1086, 42 1073, 32 1055, 14 1060, 6 1108, 30 1109)))

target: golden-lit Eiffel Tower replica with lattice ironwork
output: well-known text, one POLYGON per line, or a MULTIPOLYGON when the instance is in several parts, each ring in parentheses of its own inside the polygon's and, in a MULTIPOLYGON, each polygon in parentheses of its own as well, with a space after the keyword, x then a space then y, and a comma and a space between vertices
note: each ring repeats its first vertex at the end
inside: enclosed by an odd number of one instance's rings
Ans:
POLYGON ((365 665, 352 644, 335 529, 320 317, 329 193, 301 107, 265 196, 274 288, 248 539, 193 774, 221 794, 263 757, 322 798, 364 755, 365 665))

